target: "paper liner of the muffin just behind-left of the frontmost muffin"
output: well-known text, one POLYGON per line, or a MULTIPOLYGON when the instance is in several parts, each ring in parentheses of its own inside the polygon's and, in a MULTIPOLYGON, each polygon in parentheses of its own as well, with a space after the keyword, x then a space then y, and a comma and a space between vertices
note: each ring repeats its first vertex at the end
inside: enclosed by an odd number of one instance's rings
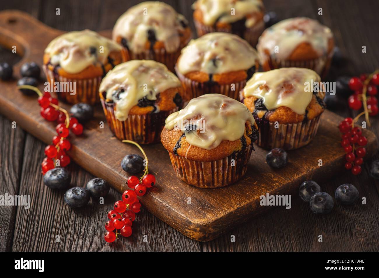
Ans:
POLYGON ((119 121, 114 115, 116 104, 107 103, 103 93, 100 93, 100 101, 112 133, 119 140, 132 140, 139 144, 160 142, 164 121, 171 113, 179 109, 177 107, 170 111, 160 111, 146 115, 129 115, 125 121, 119 121))

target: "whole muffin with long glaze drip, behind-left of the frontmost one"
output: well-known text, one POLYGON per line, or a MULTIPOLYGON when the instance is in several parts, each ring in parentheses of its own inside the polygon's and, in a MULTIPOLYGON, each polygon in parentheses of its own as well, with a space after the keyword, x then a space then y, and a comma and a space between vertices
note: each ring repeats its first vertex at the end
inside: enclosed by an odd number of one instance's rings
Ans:
POLYGON ((132 60, 114 67, 100 84, 106 120, 120 140, 159 142, 164 120, 182 108, 179 79, 158 62, 132 60))

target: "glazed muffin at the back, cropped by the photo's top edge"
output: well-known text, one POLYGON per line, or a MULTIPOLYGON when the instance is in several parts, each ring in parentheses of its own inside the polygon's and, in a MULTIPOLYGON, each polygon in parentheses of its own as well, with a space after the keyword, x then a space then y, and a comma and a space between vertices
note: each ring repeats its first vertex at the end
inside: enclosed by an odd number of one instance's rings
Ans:
POLYGON ((232 33, 255 47, 265 30, 261 0, 197 0, 193 9, 199 37, 211 32, 232 33))

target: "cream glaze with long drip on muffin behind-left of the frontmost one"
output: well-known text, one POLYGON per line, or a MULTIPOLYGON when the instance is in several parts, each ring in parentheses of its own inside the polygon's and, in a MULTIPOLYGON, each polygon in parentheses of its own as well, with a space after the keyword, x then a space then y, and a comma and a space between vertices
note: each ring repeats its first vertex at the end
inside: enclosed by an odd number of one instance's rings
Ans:
POLYGON ((106 99, 116 104, 116 119, 125 121, 139 99, 146 96, 156 100, 158 93, 180 86, 179 79, 165 65, 151 60, 132 60, 108 71, 99 92, 106 92, 106 99))

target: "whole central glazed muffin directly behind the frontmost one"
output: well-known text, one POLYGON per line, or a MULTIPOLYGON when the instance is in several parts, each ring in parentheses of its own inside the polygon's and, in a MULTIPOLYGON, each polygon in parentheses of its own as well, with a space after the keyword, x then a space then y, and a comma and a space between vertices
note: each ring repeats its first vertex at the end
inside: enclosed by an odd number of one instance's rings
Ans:
POLYGON ((187 99, 207 93, 238 99, 258 67, 258 53, 246 40, 216 32, 191 40, 183 48, 175 70, 187 99))

